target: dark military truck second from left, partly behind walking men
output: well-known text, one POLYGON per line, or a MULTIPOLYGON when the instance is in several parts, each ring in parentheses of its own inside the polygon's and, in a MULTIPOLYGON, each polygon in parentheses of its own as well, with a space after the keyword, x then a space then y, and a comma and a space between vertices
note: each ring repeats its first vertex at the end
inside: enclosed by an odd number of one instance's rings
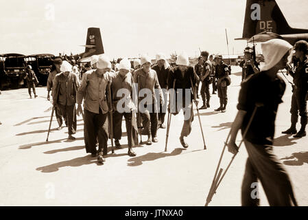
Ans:
POLYGON ((31 65, 40 85, 47 85, 47 79, 51 70, 54 54, 32 54, 26 56, 27 65, 31 65))

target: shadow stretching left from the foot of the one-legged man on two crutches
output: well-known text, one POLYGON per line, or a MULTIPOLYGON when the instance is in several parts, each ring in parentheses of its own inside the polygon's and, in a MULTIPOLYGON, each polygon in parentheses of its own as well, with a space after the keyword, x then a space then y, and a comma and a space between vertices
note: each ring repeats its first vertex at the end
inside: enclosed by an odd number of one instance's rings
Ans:
POLYGON ((184 148, 175 148, 174 151, 172 151, 171 153, 165 153, 165 152, 147 153, 139 157, 132 157, 128 159, 128 166, 140 166, 141 164, 143 164, 143 162, 146 162, 146 161, 152 161, 152 160, 160 159, 163 157, 172 157, 172 156, 180 155, 182 151, 186 151, 186 150, 184 148))

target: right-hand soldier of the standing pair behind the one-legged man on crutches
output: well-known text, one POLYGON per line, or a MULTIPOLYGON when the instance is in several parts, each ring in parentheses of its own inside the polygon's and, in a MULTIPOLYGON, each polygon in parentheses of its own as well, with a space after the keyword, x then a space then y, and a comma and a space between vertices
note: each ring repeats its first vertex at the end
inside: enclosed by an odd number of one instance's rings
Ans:
POLYGON ((220 98, 220 107, 215 111, 226 111, 226 105, 228 103, 227 88, 230 85, 230 78, 228 77, 230 69, 228 65, 222 61, 222 55, 217 55, 215 67, 215 78, 217 78, 217 91, 220 98))

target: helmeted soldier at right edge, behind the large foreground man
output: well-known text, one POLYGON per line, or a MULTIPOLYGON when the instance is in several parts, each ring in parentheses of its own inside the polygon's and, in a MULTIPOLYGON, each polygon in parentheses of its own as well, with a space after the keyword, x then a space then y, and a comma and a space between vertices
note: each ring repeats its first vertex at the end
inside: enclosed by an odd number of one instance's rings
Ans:
POLYGON ((289 70, 293 77, 294 90, 291 102, 291 126, 283 133, 295 134, 296 123, 298 121, 298 111, 300 115, 300 131, 294 137, 306 136, 307 125, 307 90, 308 90, 308 43, 307 41, 298 41, 295 44, 295 56, 298 58, 295 72, 289 70))

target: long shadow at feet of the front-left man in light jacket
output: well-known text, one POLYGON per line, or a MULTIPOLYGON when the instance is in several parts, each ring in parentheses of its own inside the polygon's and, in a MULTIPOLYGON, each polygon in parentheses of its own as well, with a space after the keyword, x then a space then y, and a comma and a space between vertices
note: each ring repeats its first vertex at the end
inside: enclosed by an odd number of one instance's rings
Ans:
MULTIPOLYGON (((65 166, 82 166, 82 165, 88 165, 88 164, 97 164, 97 158, 91 157, 91 155, 86 155, 84 157, 77 157, 74 159, 69 159, 66 161, 58 162, 56 164, 50 164, 47 166, 41 166, 36 168, 36 170, 42 172, 42 173, 52 173, 59 170, 61 167, 65 166)), ((100 164, 97 164, 100 165, 100 164)))

